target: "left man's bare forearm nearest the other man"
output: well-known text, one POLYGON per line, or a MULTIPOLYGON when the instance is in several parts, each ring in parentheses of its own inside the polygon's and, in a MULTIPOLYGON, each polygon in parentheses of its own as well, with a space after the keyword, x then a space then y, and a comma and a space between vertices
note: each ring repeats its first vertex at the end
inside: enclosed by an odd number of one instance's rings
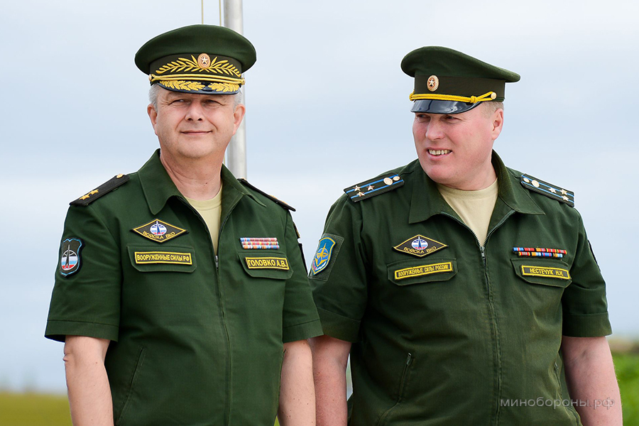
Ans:
POLYGON ((280 425, 315 425, 311 351, 306 340, 284 344, 280 381, 280 425))

